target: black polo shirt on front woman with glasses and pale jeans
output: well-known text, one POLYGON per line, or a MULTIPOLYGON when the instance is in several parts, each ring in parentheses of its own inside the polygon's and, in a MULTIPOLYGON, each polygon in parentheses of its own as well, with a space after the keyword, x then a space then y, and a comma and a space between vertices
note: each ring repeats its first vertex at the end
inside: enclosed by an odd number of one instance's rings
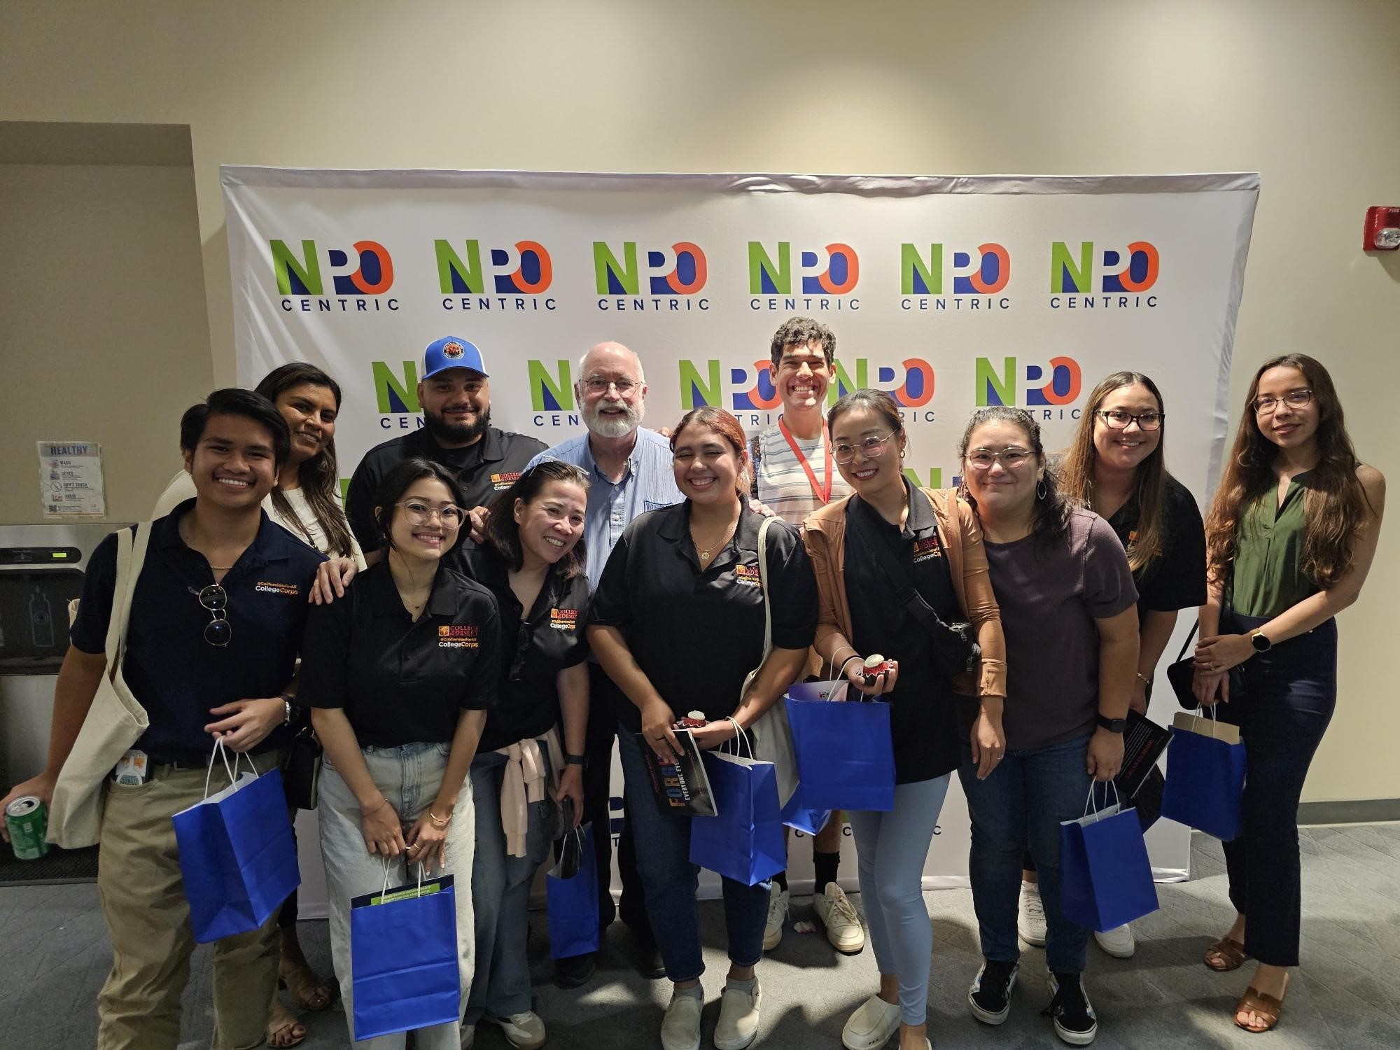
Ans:
POLYGON ((361 748, 448 743, 463 710, 496 706, 500 631, 491 592, 447 566, 413 620, 381 561, 311 608, 300 696, 344 708, 361 748))

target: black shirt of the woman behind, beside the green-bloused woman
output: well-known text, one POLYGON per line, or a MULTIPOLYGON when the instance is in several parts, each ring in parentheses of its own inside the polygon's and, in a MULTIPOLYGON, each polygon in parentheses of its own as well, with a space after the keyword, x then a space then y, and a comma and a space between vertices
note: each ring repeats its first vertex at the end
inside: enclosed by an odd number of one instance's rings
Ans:
MULTIPOLYGON (((1151 610, 1176 612, 1205 605, 1205 526, 1196 497, 1172 475, 1162 490, 1162 554, 1133 574, 1138 589, 1138 623, 1151 610)), ((1109 526, 1127 549, 1137 536, 1138 503, 1134 496, 1109 518, 1109 526)))

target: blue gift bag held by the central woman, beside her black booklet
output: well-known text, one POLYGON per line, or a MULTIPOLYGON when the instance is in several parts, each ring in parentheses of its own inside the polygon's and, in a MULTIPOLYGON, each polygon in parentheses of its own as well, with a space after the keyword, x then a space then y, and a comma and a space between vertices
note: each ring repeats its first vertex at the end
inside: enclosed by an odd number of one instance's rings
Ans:
POLYGON ((704 752, 714 816, 690 818, 690 862, 752 886, 787 868, 771 762, 704 752))

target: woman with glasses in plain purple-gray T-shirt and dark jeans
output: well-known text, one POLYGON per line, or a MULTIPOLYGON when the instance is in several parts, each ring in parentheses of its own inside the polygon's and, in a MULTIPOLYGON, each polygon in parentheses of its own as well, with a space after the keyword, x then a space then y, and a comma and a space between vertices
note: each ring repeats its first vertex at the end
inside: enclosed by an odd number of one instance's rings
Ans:
POLYGON ((984 958, 967 1001, 987 1025, 1011 1011, 1021 858, 1029 851, 1044 888, 1046 1014, 1064 1042, 1085 1046, 1098 1032, 1082 981, 1089 931, 1060 907, 1060 822, 1084 813, 1091 777, 1112 780, 1123 764, 1137 588, 1109 524, 1060 491, 1046 469, 1040 426, 1028 412, 979 409, 959 452, 1007 637, 1005 757, 987 777, 970 757, 959 769, 984 958))

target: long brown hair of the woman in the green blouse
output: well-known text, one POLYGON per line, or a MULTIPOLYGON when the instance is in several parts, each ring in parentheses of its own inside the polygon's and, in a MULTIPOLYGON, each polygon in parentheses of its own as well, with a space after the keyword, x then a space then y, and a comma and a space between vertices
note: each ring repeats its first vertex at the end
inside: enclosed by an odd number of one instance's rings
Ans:
POLYGON ((1303 374, 1317 405, 1317 466, 1310 470, 1303 496, 1303 574, 1317 587, 1334 587, 1351 568, 1357 533, 1366 522, 1371 503, 1357 479, 1357 451, 1347 434, 1337 388, 1322 363, 1306 354, 1271 357, 1259 365, 1245 395, 1245 414, 1235 433, 1235 447, 1205 517, 1205 563, 1212 581, 1222 581, 1239 549, 1236 532, 1250 504, 1274 490, 1274 456, 1278 445, 1264 437, 1253 402, 1259 379, 1270 368, 1296 368, 1303 374))

